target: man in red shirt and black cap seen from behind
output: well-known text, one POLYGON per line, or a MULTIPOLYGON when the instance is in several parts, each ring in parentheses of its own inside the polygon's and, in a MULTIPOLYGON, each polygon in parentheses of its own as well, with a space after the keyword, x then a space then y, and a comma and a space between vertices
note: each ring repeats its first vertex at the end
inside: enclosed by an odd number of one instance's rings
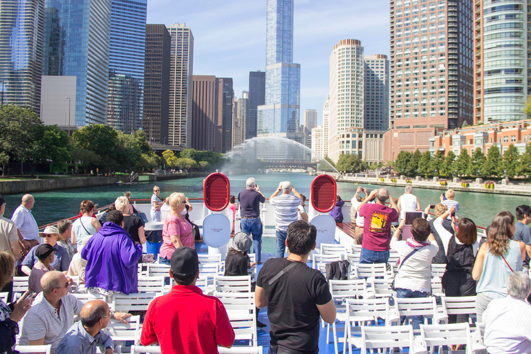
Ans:
POLYGON ((217 346, 230 348, 234 330, 219 299, 203 295, 196 287, 199 261, 195 250, 177 248, 171 255, 169 275, 176 285, 169 294, 149 304, 140 342, 158 342, 162 353, 218 353, 217 346))

